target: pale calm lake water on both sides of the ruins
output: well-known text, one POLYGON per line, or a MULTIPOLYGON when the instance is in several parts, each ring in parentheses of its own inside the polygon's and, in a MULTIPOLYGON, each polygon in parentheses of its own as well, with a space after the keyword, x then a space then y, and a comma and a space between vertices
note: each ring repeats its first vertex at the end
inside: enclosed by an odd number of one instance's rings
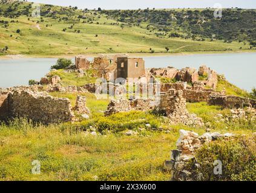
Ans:
MULTIPOLYGON (((57 59, 0 59, 0 87, 27 85, 28 80, 40 80, 57 59)), ((207 65, 225 74, 227 80, 246 90, 256 87, 256 53, 198 54, 144 57, 146 68, 173 66, 199 68, 207 65)))

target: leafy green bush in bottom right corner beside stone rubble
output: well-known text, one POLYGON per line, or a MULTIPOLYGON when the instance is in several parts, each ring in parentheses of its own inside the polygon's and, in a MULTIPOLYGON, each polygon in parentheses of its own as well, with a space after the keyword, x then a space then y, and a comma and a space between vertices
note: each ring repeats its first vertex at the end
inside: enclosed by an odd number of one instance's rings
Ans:
POLYGON ((203 145, 195 154, 200 163, 199 171, 205 180, 255 181, 256 180, 256 136, 237 136, 230 141, 215 141, 203 145), (223 175, 214 175, 215 160, 221 160, 223 175))

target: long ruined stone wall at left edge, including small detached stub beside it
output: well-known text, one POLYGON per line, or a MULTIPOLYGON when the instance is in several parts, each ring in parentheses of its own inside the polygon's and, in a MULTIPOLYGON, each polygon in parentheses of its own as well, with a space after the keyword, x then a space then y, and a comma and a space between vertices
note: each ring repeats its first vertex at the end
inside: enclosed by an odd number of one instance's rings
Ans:
POLYGON ((0 88, 0 121, 10 118, 27 118, 42 124, 75 121, 78 115, 89 115, 86 97, 77 96, 76 106, 71 107, 68 98, 54 98, 47 92, 38 92, 38 87, 0 88))

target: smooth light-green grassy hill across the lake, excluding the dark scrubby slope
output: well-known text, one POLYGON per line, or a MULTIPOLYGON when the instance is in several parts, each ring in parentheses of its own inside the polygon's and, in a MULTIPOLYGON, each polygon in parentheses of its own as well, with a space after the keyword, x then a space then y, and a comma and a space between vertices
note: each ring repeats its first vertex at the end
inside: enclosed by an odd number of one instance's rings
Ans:
POLYGON ((159 36, 141 25, 120 21, 110 12, 41 5, 41 17, 31 17, 28 2, 0 4, 1 55, 73 55, 111 52, 171 53, 248 51, 245 42, 159 36), (112 19, 111 19, 112 18, 112 19), (7 48, 7 49, 5 49, 7 48))

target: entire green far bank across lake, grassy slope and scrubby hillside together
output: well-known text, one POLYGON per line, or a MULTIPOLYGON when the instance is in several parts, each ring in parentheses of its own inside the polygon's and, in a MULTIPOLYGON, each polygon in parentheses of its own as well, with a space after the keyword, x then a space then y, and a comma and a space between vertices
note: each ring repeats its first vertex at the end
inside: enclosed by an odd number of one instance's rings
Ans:
POLYGON ((248 41, 251 36, 255 36, 255 22, 248 22, 248 19, 254 17, 254 10, 231 10, 232 14, 241 13, 242 16, 234 21, 216 21, 223 22, 223 26, 232 25, 232 28, 227 27, 229 30, 234 29, 234 24, 238 25, 234 32, 238 33, 238 36, 229 31, 223 32, 223 39, 229 39, 226 35, 232 36, 231 43, 217 38, 219 36, 212 40, 212 35, 217 34, 216 30, 226 29, 216 27, 215 21, 209 19, 212 10, 149 10, 148 13, 143 10, 131 10, 130 13, 41 5, 41 17, 31 17, 32 11, 30 2, 0 5, 0 48, 8 46, 8 50, 0 54, 45 56, 103 52, 248 51, 251 48, 248 41), (177 17, 177 21, 172 21, 172 13, 177 17), (132 17, 126 17, 127 14, 132 17), (186 15, 189 17, 185 17, 186 15), (146 19, 147 17, 151 19, 146 19), (198 24, 202 25, 201 27, 197 27, 197 24, 189 25, 190 22, 196 22, 197 17, 205 17, 208 20, 204 24, 198 24), (130 21, 131 18, 138 18, 140 21, 130 21), (244 19, 246 23, 243 22, 244 19), (243 24, 246 24, 246 27, 243 24), (188 27, 199 29, 191 30, 188 27), (171 31, 165 31, 165 28, 171 28, 171 31), (203 29, 207 29, 207 34, 202 33, 203 29), (245 30, 244 33, 240 32, 242 29, 245 30), (183 36, 176 36, 174 31, 183 36), (239 40, 234 39, 235 37, 239 37, 239 40))

